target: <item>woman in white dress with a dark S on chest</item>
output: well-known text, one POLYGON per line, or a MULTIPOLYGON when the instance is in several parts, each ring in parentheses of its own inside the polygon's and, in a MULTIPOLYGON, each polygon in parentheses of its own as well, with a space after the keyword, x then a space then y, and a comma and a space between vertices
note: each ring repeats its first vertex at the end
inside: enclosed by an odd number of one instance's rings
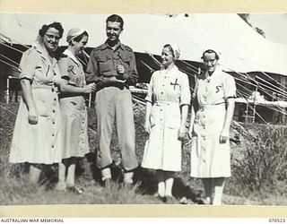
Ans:
POLYGON ((202 178, 206 202, 221 204, 226 177, 230 177, 230 123, 234 111, 234 78, 222 72, 219 56, 204 51, 206 68, 196 78, 188 134, 192 136, 191 177, 202 178))

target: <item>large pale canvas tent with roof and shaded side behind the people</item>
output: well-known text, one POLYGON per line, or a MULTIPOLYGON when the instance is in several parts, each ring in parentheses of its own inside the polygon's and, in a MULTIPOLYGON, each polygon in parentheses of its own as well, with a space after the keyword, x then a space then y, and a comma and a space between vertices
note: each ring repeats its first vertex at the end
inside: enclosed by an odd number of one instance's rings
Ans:
MULTIPOLYGON (((6 46, 30 46, 43 24, 57 21, 65 29, 60 46, 67 45, 65 36, 68 30, 83 27, 90 35, 87 47, 96 47, 106 40, 105 21, 108 16, 109 14, 0 13, 0 43, 3 41, 6 46)), ((178 44, 181 49, 179 67, 191 74, 191 83, 192 75, 201 66, 203 51, 214 48, 221 53, 220 63, 224 70, 237 79, 239 97, 247 99, 252 91, 260 90, 269 96, 269 100, 274 99, 275 94, 283 96, 275 100, 287 98, 287 46, 265 39, 237 14, 121 16, 125 24, 120 39, 135 51, 140 77, 144 77, 140 82, 148 82, 151 71, 156 69, 151 55, 161 55, 162 46, 171 42, 178 44)), ((17 60, 20 60, 19 56, 17 60)), ((247 100, 245 102, 248 103, 247 100)), ((270 102, 265 101, 265 106, 274 107, 274 102, 270 102)), ((278 105, 285 108, 284 103, 278 105)), ((277 109, 277 112, 286 115, 284 109, 277 109)))

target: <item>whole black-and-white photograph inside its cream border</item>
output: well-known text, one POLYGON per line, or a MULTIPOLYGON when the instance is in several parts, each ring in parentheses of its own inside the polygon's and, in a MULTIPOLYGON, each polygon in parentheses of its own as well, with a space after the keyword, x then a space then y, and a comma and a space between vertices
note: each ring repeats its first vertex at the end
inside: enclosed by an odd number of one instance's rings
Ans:
POLYGON ((0 13, 0 205, 287 206, 286 62, 287 13, 0 13))

